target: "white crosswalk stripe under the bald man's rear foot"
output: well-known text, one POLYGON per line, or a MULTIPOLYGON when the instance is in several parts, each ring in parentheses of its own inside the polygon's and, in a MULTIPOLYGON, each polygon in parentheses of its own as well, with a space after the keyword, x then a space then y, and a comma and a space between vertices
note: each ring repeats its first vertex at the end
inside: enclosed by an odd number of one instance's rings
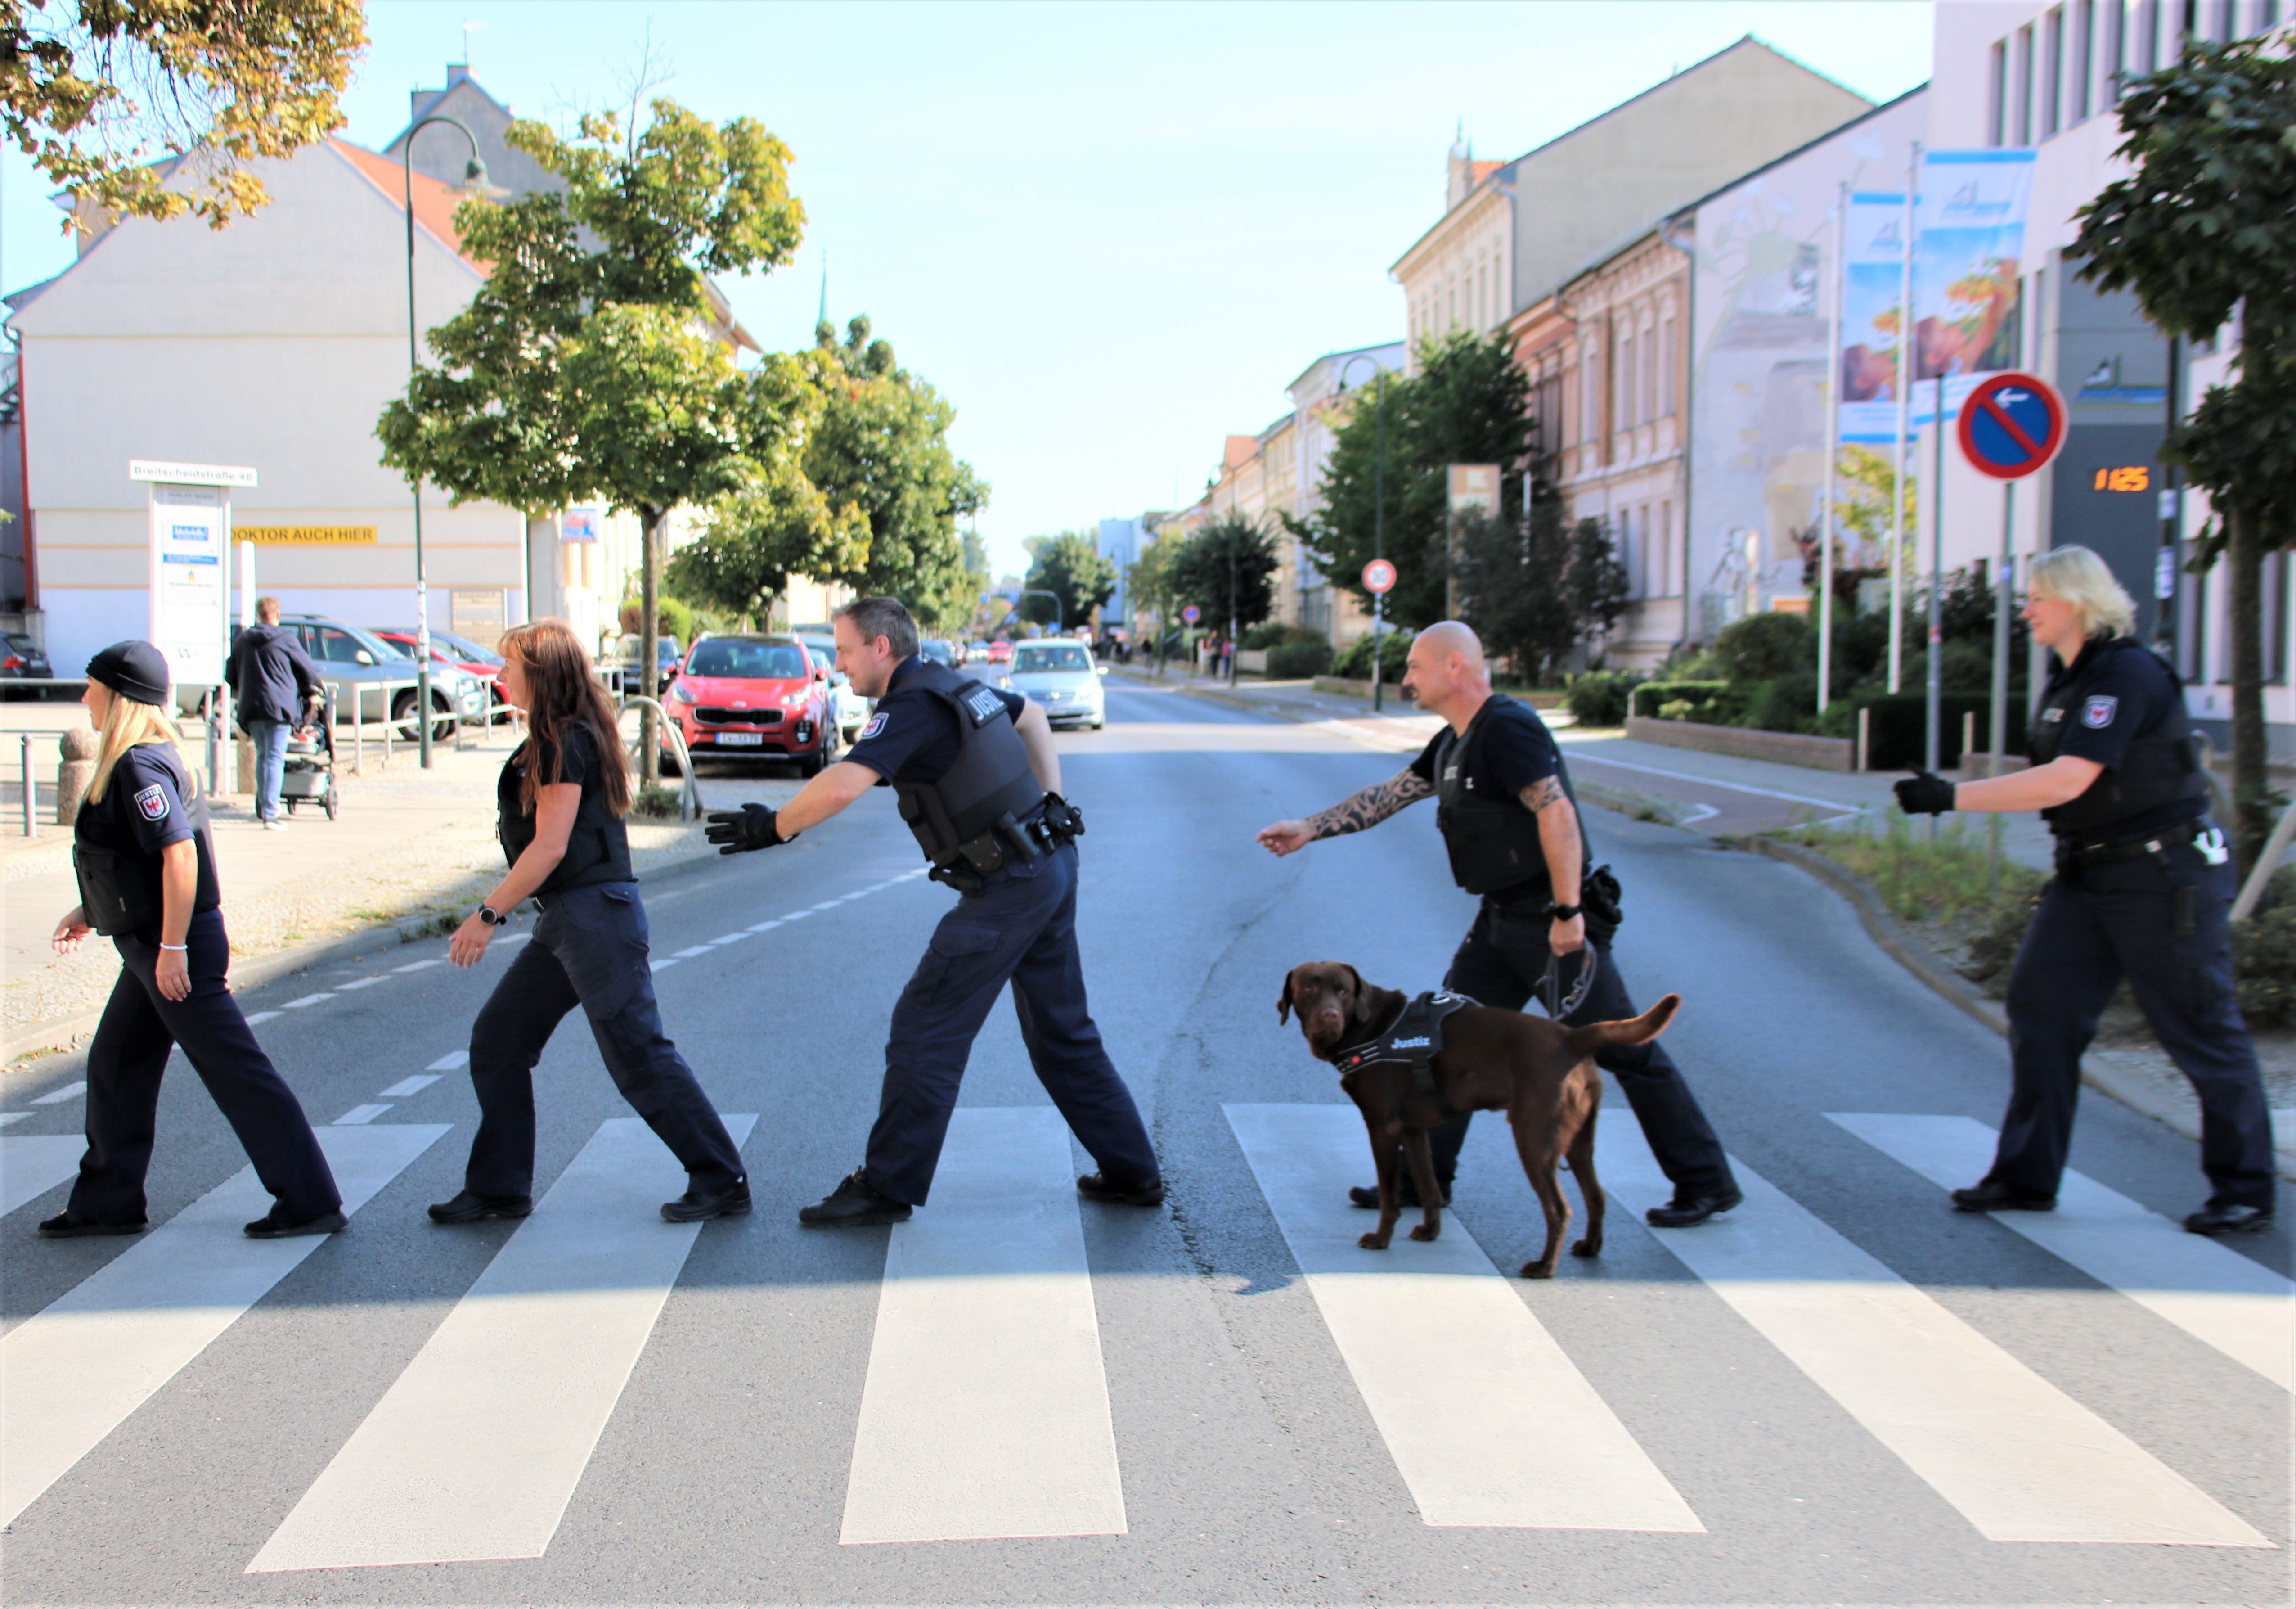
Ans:
MULTIPOLYGON (((1612 1198, 1671 1198, 1642 1134, 1596 1138, 1612 1198)), ((2126 1435, 1731 1157, 1745 1205, 1660 1246, 1993 1542, 2273 1547, 2126 1435)))

